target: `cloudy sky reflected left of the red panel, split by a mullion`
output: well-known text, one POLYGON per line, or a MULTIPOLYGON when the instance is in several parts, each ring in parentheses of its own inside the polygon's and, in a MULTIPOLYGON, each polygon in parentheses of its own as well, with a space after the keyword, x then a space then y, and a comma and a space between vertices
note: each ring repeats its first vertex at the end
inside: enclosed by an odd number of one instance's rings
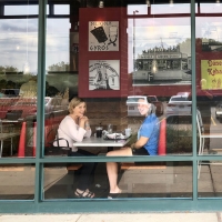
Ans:
MULTIPOLYGON (((69 62, 69 19, 47 20, 47 69, 49 65, 69 62)), ((38 19, 0 20, 0 65, 23 70, 28 61, 30 71, 37 73, 38 19)))

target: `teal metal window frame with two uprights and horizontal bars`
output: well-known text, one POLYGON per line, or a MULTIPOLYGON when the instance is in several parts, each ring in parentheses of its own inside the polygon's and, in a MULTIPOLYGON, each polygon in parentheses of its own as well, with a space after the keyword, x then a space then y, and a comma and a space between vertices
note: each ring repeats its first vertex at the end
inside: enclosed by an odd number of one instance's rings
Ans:
MULTIPOLYGON (((191 0, 191 54, 192 54, 192 94, 195 95, 195 1, 191 0)), ((34 164, 36 188, 33 200, 0 200, 0 213, 46 213, 46 212, 172 212, 172 211, 220 211, 222 198, 198 198, 198 161, 222 161, 220 155, 196 154, 196 98, 192 98, 192 128, 193 128, 193 153, 192 155, 169 157, 94 157, 94 158, 43 158, 43 127, 44 127, 44 89, 46 89, 46 24, 47 0, 39 1, 39 43, 38 43, 38 114, 37 114, 37 153, 36 159, 0 159, 0 164, 34 164), (147 161, 147 162, 180 162, 193 163, 193 196, 192 198, 140 198, 124 200, 43 200, 43 165, 44 163, 65 162, 121 162, 121 161, 147 161)))

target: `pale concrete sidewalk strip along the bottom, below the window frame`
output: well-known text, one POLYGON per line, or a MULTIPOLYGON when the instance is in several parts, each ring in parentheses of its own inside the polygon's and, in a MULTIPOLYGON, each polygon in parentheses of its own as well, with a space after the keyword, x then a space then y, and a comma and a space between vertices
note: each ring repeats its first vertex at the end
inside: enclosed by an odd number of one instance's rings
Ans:
POLYGON ((221 222, 221 212, 137 214, 0 214, 0 222, 221 222))

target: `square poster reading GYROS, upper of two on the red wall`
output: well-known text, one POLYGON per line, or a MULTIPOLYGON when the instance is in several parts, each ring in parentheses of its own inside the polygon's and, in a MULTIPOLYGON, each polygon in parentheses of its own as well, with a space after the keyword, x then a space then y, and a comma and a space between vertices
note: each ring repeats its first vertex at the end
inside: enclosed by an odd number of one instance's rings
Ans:
POLYGON ((89 51, 119 51, 119 21, 89 21, 89 51))

